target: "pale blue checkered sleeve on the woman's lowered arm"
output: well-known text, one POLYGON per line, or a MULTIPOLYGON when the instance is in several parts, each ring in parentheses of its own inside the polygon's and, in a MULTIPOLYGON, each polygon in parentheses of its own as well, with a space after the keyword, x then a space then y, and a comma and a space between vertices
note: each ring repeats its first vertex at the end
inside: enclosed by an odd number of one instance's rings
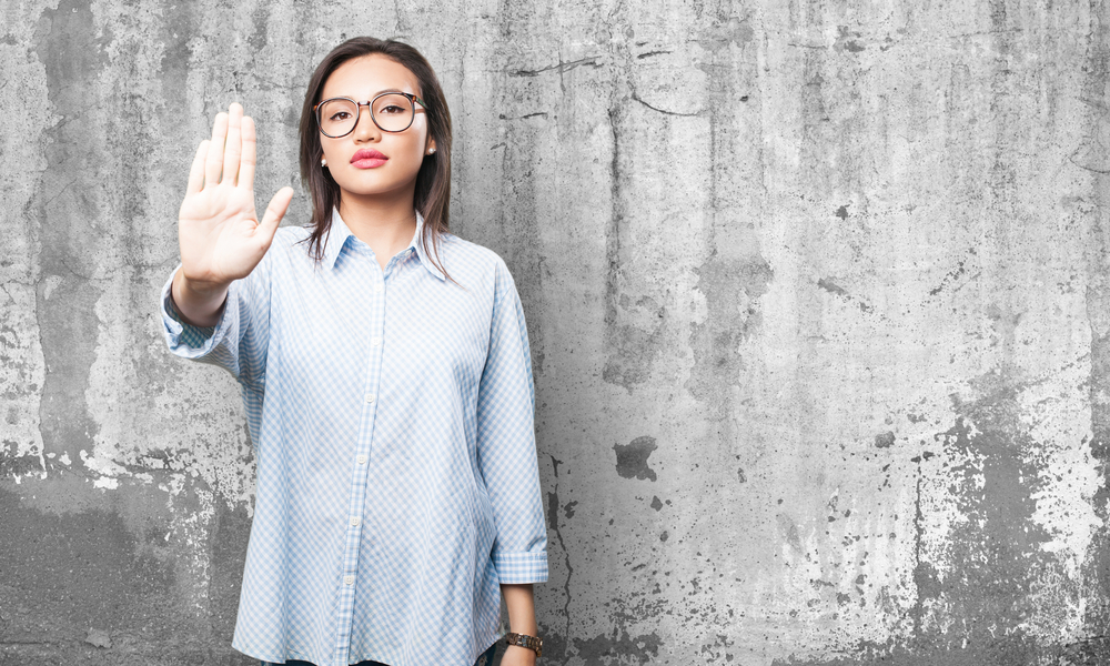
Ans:
POLYGON ((547 579, 547 527, 536 461, 535 389, 524 309, 497 262, 490 352, 477 402, 477 456, 493 505, 501 583, 547 579))

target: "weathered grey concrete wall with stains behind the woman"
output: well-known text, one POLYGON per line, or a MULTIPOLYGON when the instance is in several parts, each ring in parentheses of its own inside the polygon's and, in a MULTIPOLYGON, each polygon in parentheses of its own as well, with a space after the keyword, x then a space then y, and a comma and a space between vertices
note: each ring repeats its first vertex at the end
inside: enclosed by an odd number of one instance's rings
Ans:
POLYGON ((248 664, 251 443, 155 316, 234 100, 424 51, 533 344, 547 664, 1110 660, 1110 4, 0 3, 0 663, 248 664))

